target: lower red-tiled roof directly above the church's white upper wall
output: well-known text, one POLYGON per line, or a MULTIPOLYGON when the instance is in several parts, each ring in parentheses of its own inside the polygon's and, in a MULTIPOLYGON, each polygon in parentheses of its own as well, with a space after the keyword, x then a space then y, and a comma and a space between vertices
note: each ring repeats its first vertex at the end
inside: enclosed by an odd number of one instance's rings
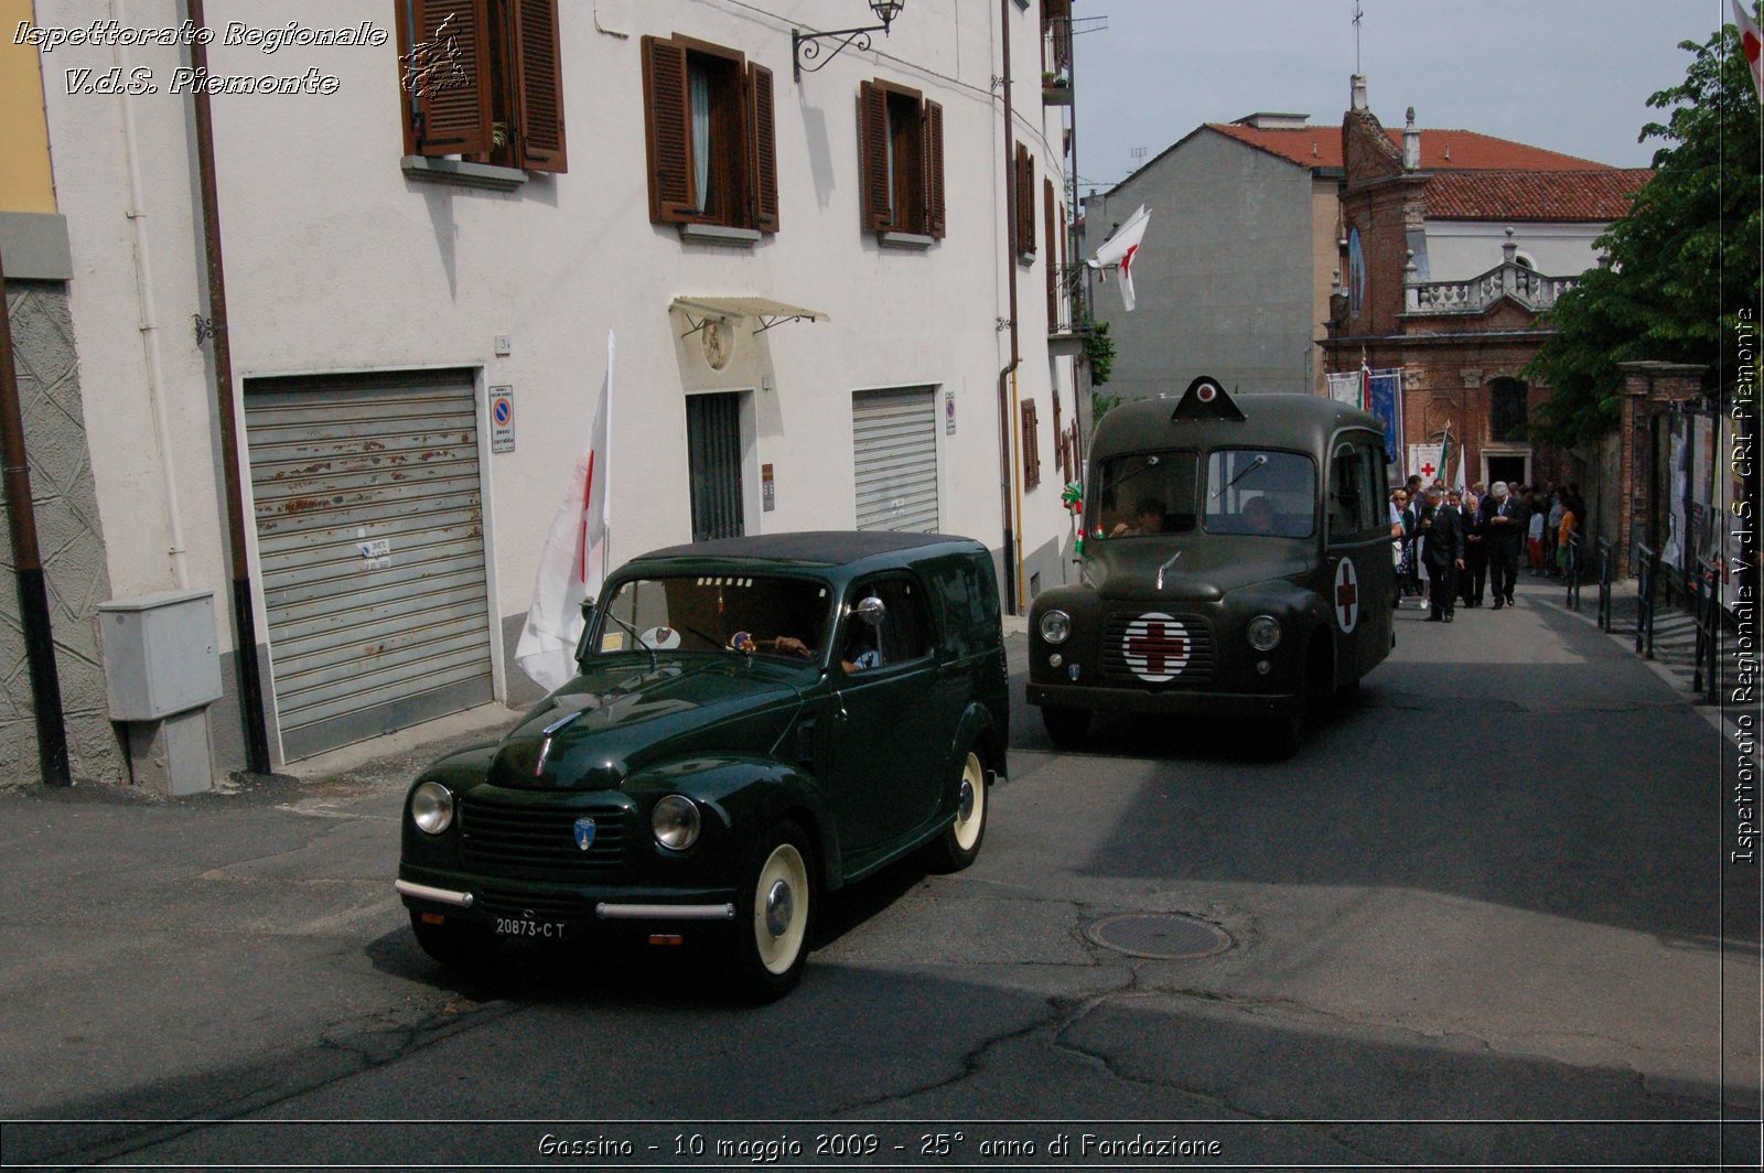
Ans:
POLYGON ((1434 171, 1429 220, 1616 220, 1653 178, 1648 169, 1434 171))

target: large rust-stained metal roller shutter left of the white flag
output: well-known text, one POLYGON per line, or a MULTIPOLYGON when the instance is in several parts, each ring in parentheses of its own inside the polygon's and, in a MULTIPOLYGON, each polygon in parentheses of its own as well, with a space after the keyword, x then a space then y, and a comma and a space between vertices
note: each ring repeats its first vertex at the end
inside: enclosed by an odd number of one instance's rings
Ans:
POLYGON ((247 379, 288 760, 492 697, 471 372, 247 379))

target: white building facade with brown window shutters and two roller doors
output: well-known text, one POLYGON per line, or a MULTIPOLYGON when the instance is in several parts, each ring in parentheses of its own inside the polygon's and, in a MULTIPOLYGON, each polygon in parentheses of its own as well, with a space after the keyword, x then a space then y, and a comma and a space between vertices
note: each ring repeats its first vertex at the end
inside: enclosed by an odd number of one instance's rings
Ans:
POLYGON ((609 333, 614 563, 935 529, 1014 610, 1062 582, 1044 18, 908 0, 797 78, 864 0, 37 4, 109 591, 213 591, 215 764, 252 661, 272 764, 538 695, 512 649, 609 333))

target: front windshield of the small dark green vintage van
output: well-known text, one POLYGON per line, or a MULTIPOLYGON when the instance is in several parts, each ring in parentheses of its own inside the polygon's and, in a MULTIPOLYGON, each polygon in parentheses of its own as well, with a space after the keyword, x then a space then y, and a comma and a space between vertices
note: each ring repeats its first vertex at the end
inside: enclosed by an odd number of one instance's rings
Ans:
POLYGON ((785 575, 626 579, 600 609, 600 654, 723 651, 737 635, 757 654, 818 658, 833 614, 831 587, 785 575))

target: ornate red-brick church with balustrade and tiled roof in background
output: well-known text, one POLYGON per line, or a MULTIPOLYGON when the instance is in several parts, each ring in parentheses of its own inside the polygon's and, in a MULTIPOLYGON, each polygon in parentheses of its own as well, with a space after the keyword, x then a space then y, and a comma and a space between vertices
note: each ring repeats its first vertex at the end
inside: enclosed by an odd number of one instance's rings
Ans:
POLYGON ((1422 143, 1413 109, 1399 145, 1353 79, 1325 369, 1401 367, 1404 452, 1450 425, 1469 482, 1586 482, 1577 455, 1524 439, 1549 388, 1521 370, 1551 335, 1540 314, 1598 263, 1593 240, 1653 173, 1471 132, 1422 143))

